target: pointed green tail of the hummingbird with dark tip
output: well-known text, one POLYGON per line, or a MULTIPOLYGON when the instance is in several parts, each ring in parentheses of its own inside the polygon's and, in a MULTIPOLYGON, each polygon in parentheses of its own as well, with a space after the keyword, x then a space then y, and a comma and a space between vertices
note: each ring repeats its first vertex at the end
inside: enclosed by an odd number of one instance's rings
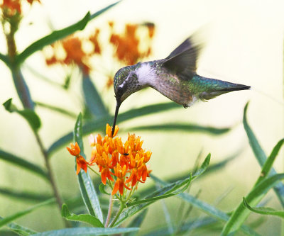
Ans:
POLYGON ((199 84, 197 87, 200 88, 199 98, 202 101, 214 99, 216 96, 226 94, 231 91, 251 89, 251 86, 246 86, 244 84, 234 84, 219 79, 209 79, 200 76, 195 76, 192 80, 193 83, 199 84))

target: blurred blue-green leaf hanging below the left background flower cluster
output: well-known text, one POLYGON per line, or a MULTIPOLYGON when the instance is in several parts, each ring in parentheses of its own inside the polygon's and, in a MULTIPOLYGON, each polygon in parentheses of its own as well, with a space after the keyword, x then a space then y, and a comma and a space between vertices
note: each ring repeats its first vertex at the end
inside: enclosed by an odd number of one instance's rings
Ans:
POLYGON ((99 93, 88 74, 84 74, 82 87, 84 101, 86 102, 89 111, 91 111, 97 118, 107 116, 107 108, 104 106, 104 102, 102 101, 101 96, 99 96, 99 93))

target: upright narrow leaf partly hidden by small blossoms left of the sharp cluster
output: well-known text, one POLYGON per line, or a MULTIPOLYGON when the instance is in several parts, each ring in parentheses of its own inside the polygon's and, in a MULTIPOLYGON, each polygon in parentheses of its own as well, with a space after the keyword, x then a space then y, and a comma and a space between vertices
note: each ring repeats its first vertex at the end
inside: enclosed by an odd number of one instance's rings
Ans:
MULTIPOLYGON (((83 146, 83 141, 82 141, 82 114, 81 113, 78 116, 76 124, 75 124, 74 142, 78 143, 81 149, 80 154, 86 159, 84 155, 84 146, 83 146)), ((78 174, 78 182, 79 182, 82 198, 87 207, 87 210, 89 211, 89 214, 95 216, 101 221, 101 223, 103 223, 104 218, 102 215, 101 206, 99 204, 99 197, 97 195, 96 190, 94 189, 94 184, 92 182, 91 177, 89 176, 89 173, 85 173, 81 169, 80 173, 78 174)))

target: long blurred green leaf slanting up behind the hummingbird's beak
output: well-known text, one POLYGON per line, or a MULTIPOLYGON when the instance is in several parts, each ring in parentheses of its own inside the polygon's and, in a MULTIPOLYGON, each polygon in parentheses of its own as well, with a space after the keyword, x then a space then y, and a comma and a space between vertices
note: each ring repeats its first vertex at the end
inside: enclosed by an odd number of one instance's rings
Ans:
MULTIPOLYGON (((161 111, 168 111, 173 108, 180 108, 180 106, 176 103, 159 103, 149 106, 144 106, 142 108, 135 108, 131 109, 130 111, 126 111, 124 113, 119 114, 119 122, 130 120, 132 118, 151 115, 153 113, 158 113, 161 111)), ((104 116, 102 118, 98 118, 92 121, 89 121, 82 127, 82 135, 88 135, 89 133, 94 132, 94 130, 99 130, 106 127, 107 123, 111 123, 113 121, 113 116, 104 116)), ((68 142, 72 141, 73 134, 72 132, 68 133, 67 135, 60 137, 59 140, 55 141, 49 148, 48 148, 48 156, 51 156, 53 152, 58 150, 63 145, 68 144, 68 142)))

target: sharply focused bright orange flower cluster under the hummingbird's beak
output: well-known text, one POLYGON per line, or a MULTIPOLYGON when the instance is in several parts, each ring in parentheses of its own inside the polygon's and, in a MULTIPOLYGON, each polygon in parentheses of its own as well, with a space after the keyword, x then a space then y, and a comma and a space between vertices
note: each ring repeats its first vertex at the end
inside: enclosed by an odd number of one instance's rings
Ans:
MULTIPOLYGON (((119 128, 116 125, 114 136, 118 131, 119 128)), ((114 195, 119 191, 122 195, 124 188, 128 190, 135 189, 138 182, 144 183, 146 178, 149 177, 150 171, 146 163, 152 153, 150 151, 145 152, 142 149, 143 141, 141 137, 128 135, 128 139, 123 143, 121 137, 112 136, 109 124, 107 124, 106 134, 104 138, 99 134, 96 137, 89 136, 90 145, 93 147, 92 157, 89 162, 80 156, 80 148, 77 147, 77 143, 75 146, 71 144, 71 149, 67 147, 67 150, 77 157, 77 174, 81 168, 86 172, 87 165, 97 164, 102 183, 107 184, 107 179, 115 181, 111 194, 114 195)))

